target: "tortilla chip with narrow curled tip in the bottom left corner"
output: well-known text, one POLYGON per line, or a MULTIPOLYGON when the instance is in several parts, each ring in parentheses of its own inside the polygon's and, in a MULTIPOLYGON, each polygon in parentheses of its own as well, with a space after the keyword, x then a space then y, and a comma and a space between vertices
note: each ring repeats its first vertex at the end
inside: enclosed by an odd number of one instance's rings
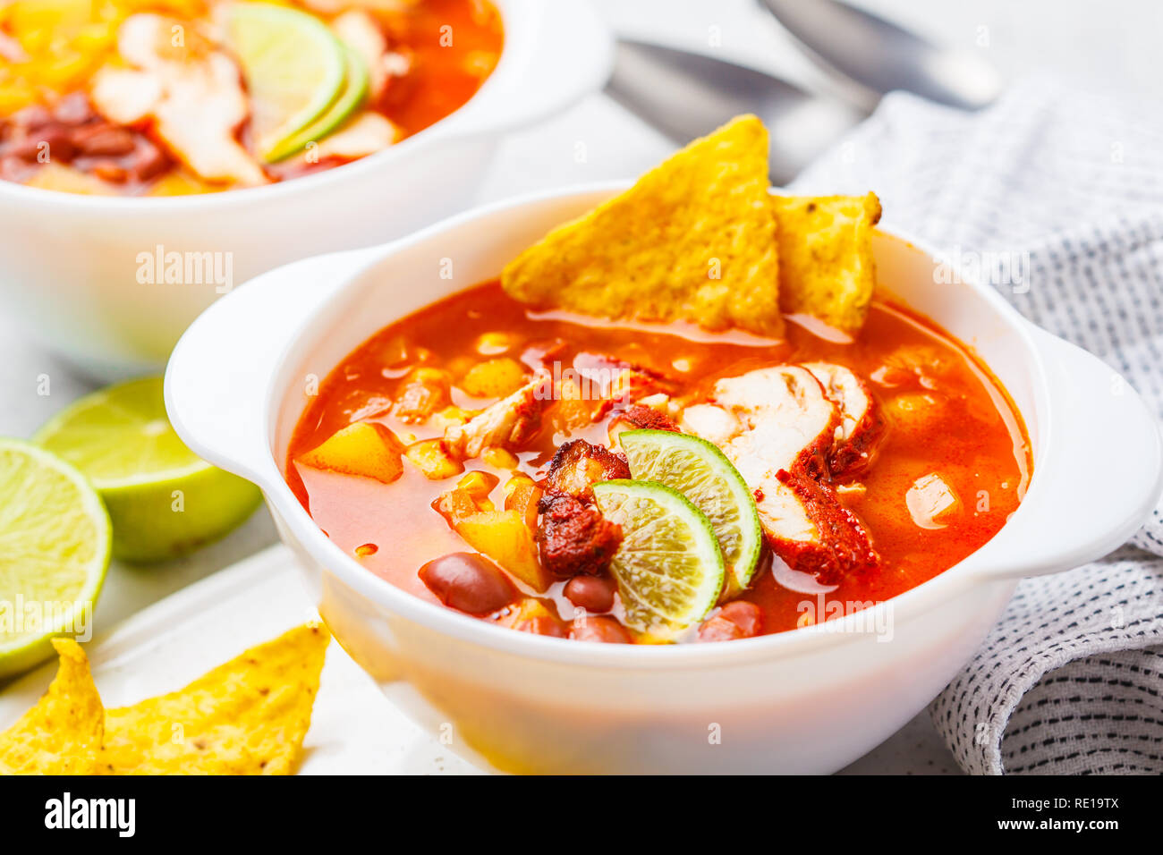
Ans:
POLYGON ((60 656, 49 691, 0 733, 0 775, 95 775, 105 710, 88 658, 72 639, 53 639, 60 656))

